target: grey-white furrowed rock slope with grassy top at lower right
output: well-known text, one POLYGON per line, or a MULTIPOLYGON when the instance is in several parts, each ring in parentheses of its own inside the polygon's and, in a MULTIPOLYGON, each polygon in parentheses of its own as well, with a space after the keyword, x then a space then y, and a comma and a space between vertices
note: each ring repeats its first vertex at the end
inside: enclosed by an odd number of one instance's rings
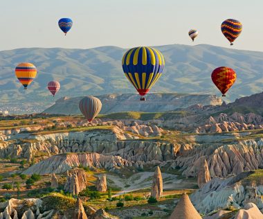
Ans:
POLYGON ((261 198, 263 181, 257 183, 251 181, 250 176, 253 174, 254 172, 250 171, 227 179, 215 177, 190 196, 192 203, 204 214, 230 206, 241 209, 248 202, 253 202, 258 208, 263 209, 261 198))

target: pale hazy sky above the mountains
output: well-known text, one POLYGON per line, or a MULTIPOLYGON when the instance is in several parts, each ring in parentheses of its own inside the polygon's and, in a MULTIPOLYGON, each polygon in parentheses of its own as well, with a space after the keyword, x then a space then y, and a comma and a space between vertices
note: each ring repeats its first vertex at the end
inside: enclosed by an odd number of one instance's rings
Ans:
POLYGON ((224 19, 243 32, 233 48, 263 51, 262 0, 1 0, 0 50, 23 47, 88 49, 96 46, 212 44, 230 47, 224 19), (57 26, 71 17, 66 37, 57 26), (199 37, 192 43, 188 30, 199 37))

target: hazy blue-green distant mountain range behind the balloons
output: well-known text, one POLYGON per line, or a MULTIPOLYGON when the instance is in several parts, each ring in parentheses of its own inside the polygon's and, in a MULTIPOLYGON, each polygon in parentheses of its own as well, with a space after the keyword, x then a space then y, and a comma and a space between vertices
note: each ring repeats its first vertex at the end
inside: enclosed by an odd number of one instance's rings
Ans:
MULTIPOLYGON (((210 45, 156 46, 165 57, 163 76, 152 92, 217 94, 210 74, 213 69, 228 66, 237 72, 237 81, 228 92, 228 100, 262 91, 263 53, 225 49, 210 45)), ((104 46, 95 49, 15 49, 0 52, 0 109, 24 107, 41 111, 54 103, 46 89, 50 80, 62 85, 56 99, 62 96, 133 93, 123 74, 121 60, 125 49, 104 46), (32 62, 37 78, 24 91, 15 77, 19 62, 32 62), (34 107, 37 106, 37 109, 34 107)), ((15 109, 15 108, 14 108, 15 109)))

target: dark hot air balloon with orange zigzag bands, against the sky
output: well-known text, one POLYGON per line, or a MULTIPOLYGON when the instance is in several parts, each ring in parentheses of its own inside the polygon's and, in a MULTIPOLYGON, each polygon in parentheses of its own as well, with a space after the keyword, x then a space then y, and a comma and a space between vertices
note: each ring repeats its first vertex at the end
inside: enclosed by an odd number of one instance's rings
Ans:
POLYGON ((237 39, 242 32, 242 24, 235 19, 226 19, 221 24, 221 31, 232 46, 235 39, 237 39))

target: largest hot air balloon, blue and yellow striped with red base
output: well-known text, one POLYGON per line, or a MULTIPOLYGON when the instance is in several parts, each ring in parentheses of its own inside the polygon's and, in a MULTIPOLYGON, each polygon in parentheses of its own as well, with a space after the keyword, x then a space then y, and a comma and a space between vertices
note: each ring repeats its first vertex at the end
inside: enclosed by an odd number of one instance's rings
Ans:
MULTIPOLYGON (((165 60, 157 49, 141 46, 129 49, 123 55, 123 71, 129 82, 134 85, 140 96, 145 96, 149 89, 161 77, 165 60)), ((140 100, 145 100, 144 97, 140 100)))

